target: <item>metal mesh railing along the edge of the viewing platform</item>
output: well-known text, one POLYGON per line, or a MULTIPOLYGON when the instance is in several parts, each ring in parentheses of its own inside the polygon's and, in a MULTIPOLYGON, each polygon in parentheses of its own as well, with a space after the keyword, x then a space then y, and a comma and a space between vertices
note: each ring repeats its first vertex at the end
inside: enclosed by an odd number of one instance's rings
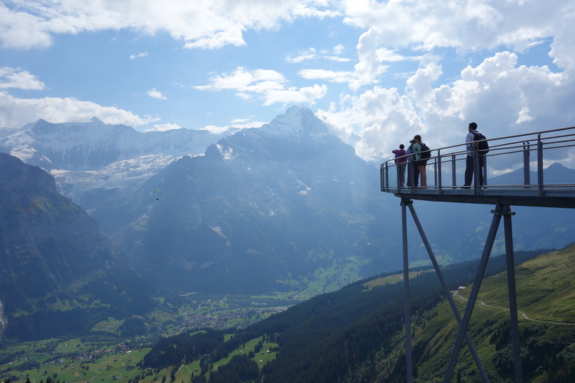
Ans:
MULTIPOLYGON (((474 141, 473 145, 478 145, 474 141)), ((548 189, 575 188, 575 127, 517 134, 487 139, 489 153, 483 155, 483 186, 473 177, 471 188, 465 190, 466 144, 431 149, 427 161, 427 188, 415 187, 413 153, 408 159, 405 180, 399 186, 399 169, 394 158, 380 166, 381 190, 387 193, 434 193, 461 189, 462 193, 481 194, 487 190, 515 190, 518 195, 536 193, 543 196, 548 189), (413 169, 413 167, 412 167, 413 169), (411 175, 411 177, 409 176, 411 175)), ((473 163, 478 164, 478 151, 473 151, 473 163)))

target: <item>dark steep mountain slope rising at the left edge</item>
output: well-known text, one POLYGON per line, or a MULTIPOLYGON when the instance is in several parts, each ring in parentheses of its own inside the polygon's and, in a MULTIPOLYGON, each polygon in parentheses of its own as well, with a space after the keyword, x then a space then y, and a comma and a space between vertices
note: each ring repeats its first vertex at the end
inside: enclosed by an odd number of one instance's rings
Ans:
POLYGON ((75 332, 111 312, 146 310, 144 284, 95 220, 56 193, 52 176, 6 153, 0 174, 0 301, 11 336, 75 332), (67 312, 53 312, 58 324, 47 329, 42 316, 62 305, 67 312), (87 310, 92 321, 78 322, 87 310))

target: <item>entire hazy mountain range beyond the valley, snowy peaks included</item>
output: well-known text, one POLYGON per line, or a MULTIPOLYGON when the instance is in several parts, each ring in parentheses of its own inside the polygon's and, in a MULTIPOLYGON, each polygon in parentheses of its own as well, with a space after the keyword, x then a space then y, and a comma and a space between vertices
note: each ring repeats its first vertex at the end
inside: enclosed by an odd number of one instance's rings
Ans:
MULTIPOLYGON (((309 109, 221 135, 144 133, 97 118, 8 133, 0 151, 50 172, 154 288, 329 291, 401 267, 399 200, 380 193, 377 167, 309 109)), ((442 263, 478 258, 491 221, 490 207, 454 205, 414 204, 442 263)), ((518 249, 572 241, 573 211, 515 211, 518 249)), ((423 264, 409 230, 410 260, 423 264)))

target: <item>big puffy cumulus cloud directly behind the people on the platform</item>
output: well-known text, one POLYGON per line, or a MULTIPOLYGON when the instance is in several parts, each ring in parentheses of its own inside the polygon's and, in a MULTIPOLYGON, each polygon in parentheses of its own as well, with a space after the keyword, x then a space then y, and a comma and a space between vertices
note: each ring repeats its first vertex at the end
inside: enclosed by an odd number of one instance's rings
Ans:
POLYGON ((376 85, 345 95, 317 114, 345 141, 359 132, 356 153, 373 161, 389 158, 415 134, 431 148, 462 144, 472 120, 487 137, 572 125, 575 109, 565 108, 575 99, 571 74, 517 61, 514 53, 497 53, 464 68, 453 83, 438 86, 442 68, 429 63, 408 78, 404 95, 376 85))

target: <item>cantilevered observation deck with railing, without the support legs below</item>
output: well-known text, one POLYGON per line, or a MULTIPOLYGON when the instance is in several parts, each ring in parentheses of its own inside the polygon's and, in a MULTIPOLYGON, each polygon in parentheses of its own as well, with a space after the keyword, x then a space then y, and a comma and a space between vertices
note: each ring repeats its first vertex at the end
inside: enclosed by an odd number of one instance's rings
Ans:
MULTIPOLYGON (((473 177, 471 188, 462 188, 467 151, 465 144, 459 144, 431 150, 427 189, 399 187, 400 168, 394 159, 384 162, 381 191, 410 200, 575 208, 575 127, 487 141, 483 186, 473 177)), ((477 164, 477 151, 473 154, 477 164)), ((411 163, 406 164, 405 180, 413 186, 413 172, 407 169, 411 163)))

